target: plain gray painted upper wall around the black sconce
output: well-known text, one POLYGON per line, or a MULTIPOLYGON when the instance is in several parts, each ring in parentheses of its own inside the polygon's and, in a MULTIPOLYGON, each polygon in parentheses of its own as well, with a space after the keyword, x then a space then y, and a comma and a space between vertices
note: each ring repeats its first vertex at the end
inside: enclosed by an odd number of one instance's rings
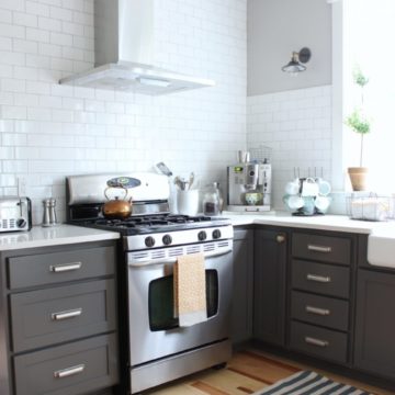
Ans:
POLYGON ((248 0, 248 95, 331 83, 331 5, 326 0, 248 0), (307 46, 307 70, 281 71, 307 46))

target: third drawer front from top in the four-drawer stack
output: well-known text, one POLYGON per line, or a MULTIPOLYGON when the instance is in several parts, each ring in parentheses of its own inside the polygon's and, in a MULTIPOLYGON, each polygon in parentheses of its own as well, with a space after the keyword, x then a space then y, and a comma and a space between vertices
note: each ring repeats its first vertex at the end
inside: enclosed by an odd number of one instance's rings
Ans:
POLYGON ((348 330, 349 303, 292 291, 292 318, 338 330, 348 330))

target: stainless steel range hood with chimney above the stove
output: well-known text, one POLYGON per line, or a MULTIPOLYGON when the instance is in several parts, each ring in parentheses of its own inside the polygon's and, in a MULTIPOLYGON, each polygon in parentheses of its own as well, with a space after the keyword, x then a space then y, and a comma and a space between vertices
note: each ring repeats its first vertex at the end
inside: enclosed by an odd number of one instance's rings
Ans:
POLYGON ((59 83, 166 94, 214 81, 155 67, 154 0, 94 0, 93 69, 59 83))

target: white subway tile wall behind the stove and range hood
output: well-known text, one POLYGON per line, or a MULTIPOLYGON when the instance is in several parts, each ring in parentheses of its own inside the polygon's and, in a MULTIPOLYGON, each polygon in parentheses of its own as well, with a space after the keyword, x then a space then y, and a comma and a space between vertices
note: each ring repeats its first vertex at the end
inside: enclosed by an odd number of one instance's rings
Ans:
MULTIPOLYGON (((156 60, 217 84, 148 97, 57 83, 93 66, 93 0, 2 0, 0 193, 16 193, 15 174, 26 176, 38 223, 43 198, 66 206, 67 174, 144 171, 163 160, 174 174, 224 184, 246 147, 246 3, 156 0, 156 60)), ((275 109, 258 112, 260 122, 280 128, 289 115, 275 109)))

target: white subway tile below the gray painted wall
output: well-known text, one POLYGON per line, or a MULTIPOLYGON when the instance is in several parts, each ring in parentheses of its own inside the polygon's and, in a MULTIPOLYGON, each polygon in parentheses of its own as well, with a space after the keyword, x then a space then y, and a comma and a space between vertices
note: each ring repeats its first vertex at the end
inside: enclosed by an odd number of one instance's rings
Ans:
POLYGON ((272 148, 273 205, 283 210, 284 185, 294 178, 331 174, 331 87, 247 98, 247 145, 272 148))

